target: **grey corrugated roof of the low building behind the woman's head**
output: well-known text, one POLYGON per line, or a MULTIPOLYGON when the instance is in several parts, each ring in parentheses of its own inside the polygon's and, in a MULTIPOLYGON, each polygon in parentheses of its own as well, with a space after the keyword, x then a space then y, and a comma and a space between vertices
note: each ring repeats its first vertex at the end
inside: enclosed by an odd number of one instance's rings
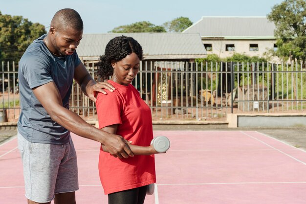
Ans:
MULTIPOLYGON (((103 33, 83 34, 77 48, 80 57, 100 56, 104 54, 109 40, 116 36, 130 36, 142 46, 144 56, 162 55, 206 55, 198 33, 103 33)), ((187 59, 194 58, 189 57, 187 59)))

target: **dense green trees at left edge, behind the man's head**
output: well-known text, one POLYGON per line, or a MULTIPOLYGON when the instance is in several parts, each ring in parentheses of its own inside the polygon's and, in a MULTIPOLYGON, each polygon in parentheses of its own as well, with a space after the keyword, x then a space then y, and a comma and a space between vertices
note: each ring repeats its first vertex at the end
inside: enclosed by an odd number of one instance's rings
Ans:
POLYGON ((33 40, 45 33, 42 24, 0 12, 0 61, 18 62, 33 40))

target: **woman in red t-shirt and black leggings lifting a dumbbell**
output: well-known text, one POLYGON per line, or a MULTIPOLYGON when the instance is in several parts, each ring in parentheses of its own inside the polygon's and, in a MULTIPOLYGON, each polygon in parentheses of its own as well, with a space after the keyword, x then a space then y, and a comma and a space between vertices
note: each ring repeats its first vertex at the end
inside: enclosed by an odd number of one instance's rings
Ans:
POLYGON ((156 182, 152 116, 148 105, 131 85, 139 71, 142 47, 131 37, 111 39, 100 57, 98 73, 116 89, 97 96, 99 127, 131 142, 134 157, 114 158, 101 146, 100 180, 109 204, 143 204, 147 185, 156 182))

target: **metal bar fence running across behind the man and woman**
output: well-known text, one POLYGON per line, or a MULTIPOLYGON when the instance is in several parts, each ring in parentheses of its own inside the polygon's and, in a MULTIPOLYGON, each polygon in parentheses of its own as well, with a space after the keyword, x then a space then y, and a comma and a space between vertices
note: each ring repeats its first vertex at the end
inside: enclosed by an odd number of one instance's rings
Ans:
MULTIPOLYGON (((99 81, 95 64, 84 64, 99 81)), ((17 121, 20 114, 17 69, 2 62, 0 121, 17 121)), ((297 62, 144 61, 132 85, 151 108, 153 120, 225 120, 227 113, 303 112, 305 83, 305 67, 297 62)), ((87 120, 96 118, 95 104, 75 82, 70 110, 87 120)))

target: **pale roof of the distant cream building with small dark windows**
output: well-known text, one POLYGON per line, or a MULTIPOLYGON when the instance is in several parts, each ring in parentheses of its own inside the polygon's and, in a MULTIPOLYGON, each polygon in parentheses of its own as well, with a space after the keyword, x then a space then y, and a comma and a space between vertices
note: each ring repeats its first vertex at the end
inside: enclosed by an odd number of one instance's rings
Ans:
POLYGON ((266 17, 202 17, 183 33, 205 37, 274 39, 275 24, 266 17))

